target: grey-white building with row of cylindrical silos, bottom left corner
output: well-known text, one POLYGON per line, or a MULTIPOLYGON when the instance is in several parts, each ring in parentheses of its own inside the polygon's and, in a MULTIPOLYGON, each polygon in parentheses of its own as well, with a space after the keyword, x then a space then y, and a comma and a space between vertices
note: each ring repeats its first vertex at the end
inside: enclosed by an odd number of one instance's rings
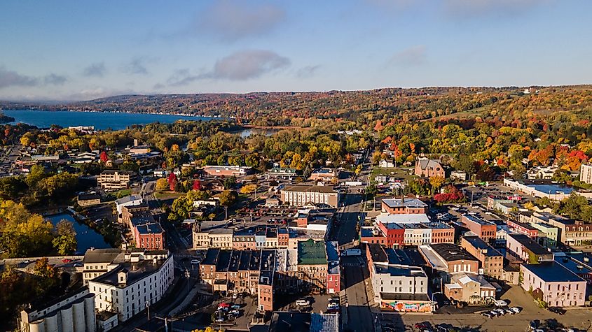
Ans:
POLYGON ((82 287, 50 303, 20 312, 18 331, 95 332, 95 294, 82 287))

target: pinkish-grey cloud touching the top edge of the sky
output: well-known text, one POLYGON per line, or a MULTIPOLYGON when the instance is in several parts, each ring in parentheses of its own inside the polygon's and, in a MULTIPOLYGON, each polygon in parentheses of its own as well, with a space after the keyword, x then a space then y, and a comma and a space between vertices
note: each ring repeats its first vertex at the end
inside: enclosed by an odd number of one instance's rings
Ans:
MULTIPOLYGON (((193 29, 209 31, 225 41, 266 34, 284 20, 286 13, 279 6, 254 4, 249 1, 222 0, 198 15, 193 29)), ((195 32, 195 31, 194 31, 195 32)))

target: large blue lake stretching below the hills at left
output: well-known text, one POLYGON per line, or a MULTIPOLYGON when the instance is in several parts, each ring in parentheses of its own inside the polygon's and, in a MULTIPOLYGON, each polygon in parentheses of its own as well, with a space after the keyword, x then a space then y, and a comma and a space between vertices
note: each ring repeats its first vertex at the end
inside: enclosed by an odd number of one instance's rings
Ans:
POLYGON ((43 110, 3 110, 2 113, 14 117, 15 122, 22 122, 39 128, 52 124, 62 127, 95 126, 97 130, 125 129, 133 124, 153 122, 173 123, 177 120, 209 121, 213 117, 191 117, 183 115, 146 114, 146 113, 97 113, 97 112, 48 112, 43 110))

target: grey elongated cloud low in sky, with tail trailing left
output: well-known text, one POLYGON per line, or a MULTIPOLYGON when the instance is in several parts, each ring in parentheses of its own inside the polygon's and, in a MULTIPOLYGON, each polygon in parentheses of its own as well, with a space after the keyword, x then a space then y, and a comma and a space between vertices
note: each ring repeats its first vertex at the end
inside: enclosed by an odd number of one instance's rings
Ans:
POLYGON ((212 71, 194 74, 188 68, 178 69, 167 80, 168 85, 188 85, 195 80, 250 80, 281 70, 290 59, 269 50, 242 50, 219 59, 212 71))

